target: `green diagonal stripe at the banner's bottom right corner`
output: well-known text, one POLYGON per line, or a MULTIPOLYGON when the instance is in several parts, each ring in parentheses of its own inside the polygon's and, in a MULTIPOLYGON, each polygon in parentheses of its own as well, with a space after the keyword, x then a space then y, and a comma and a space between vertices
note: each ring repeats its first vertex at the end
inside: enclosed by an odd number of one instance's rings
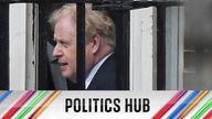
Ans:
POLYGON ((212 99, 208 101, 193 117, 192 119, 199 119, 210 107, 212 107, 212 99))

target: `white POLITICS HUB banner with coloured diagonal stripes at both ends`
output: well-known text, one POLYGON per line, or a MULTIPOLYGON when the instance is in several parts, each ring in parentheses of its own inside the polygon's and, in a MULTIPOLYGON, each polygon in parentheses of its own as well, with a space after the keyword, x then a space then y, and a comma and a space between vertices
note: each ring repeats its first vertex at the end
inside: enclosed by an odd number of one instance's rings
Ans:
POLYGON ((0 91, 2 119, 211 119, 212 91, 0 91))

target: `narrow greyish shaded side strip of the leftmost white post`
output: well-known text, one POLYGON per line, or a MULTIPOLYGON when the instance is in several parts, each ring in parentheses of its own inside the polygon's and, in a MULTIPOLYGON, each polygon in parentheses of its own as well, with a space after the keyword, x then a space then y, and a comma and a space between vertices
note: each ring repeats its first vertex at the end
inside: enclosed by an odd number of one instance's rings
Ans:
POLYGON ((39 46, 39 13, 38 6, 33 3, 26 3, 26 52, 25 52, 25 89, 36 89, 35 68, 36 60, 35 56, 39 52, 35 51, 35 46, 39 46), (34 14, 33 14, 34 9, 34 14), (33 17, 34 15, 34 17, 33 17))

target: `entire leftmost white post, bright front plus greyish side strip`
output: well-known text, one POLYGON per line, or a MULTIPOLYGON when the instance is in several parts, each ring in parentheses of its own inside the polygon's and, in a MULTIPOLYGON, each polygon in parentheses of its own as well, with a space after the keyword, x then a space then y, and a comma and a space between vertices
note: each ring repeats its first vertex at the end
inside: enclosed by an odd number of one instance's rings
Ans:
POLYGON ((10 89, 35 89, 35 45, 38 45, 39 39, 36 35, 39 30, 38 6, 32 3, 12 3, 10 4, 9 19, 10 89), (33 8, 36 12, 36 17, 34 17, 36 20, 33 20, 33 8))

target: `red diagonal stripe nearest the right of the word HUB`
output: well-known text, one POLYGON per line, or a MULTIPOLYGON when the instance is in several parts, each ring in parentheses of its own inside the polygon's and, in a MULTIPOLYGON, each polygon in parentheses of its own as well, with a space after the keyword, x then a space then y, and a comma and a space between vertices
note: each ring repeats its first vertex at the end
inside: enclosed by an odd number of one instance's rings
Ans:
POLYGON ((160 119, 180 98, 187 93, 187 90, 178 91, 161 109, 158 111, 152 119, 160 119))

